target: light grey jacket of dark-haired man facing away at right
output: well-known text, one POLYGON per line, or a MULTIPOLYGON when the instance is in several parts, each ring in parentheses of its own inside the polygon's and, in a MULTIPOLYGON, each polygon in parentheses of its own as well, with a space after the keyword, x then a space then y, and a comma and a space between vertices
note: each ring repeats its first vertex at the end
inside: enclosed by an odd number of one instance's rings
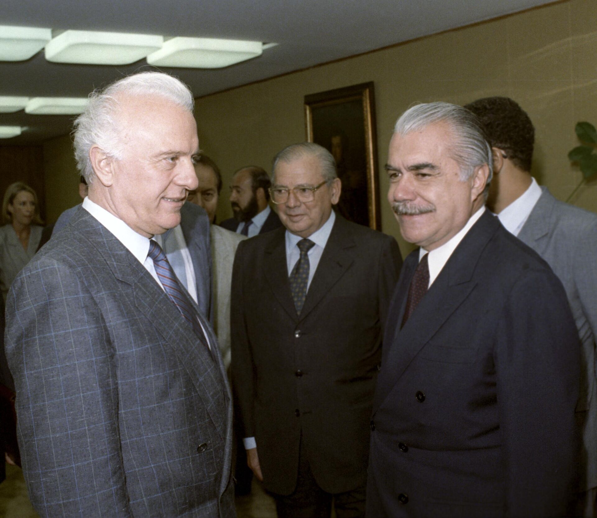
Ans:
MULTIPOLYGON (((577 421, 583 432, 578 491, 597 486, 597 215, 556 200, 546 187, 518 238, 564 284, 582 343, 577 421)), ((549 383, 549 380, 546 380, 549 383)))

